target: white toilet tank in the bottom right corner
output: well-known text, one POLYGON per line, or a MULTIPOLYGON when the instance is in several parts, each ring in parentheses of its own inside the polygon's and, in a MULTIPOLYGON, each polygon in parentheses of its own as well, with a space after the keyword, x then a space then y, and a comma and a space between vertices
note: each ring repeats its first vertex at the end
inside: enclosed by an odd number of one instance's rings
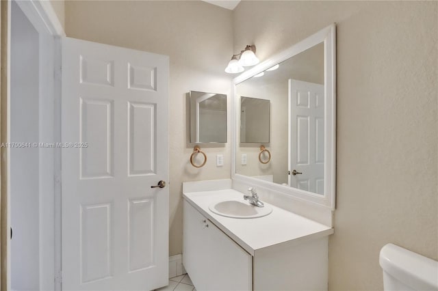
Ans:
POLYGON ((383 290, 438 290, 438 262, 391 243, 381 249, 383 290))

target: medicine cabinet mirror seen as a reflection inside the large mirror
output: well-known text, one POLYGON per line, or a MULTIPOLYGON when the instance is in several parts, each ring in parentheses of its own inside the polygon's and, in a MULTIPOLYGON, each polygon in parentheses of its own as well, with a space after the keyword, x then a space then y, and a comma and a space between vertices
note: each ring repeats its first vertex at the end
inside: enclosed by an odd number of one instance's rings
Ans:
POLYGON ((269 143, 270 100, 240 98, 240 143, 269 143))

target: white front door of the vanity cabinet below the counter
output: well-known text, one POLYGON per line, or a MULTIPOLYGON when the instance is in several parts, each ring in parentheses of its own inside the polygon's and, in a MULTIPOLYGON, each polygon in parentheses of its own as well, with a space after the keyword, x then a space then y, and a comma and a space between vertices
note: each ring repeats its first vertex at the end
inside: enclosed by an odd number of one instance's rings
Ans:
POLYGON ((252 256, 186 201, 183 211, 183 264, 196 290, 252 290, 252 256))

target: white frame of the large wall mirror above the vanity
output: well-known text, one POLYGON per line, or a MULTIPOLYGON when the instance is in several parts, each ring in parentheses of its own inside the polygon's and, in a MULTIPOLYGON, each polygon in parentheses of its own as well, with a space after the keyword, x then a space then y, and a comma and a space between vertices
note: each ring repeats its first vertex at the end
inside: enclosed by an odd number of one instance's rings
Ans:
MULTIPOLYGON (((317 33, 301 40, 297 44, 287 48, 285 51, 273 55, 266 61, 251 68, 233 79, 231 84, 231 178, 238 182, 250 184, 276 191, 285 195, 305 200, 331 210, 335 210, 335 183, 336 183, 336 26, 335 23, 321 29, 317 33), (244 176, 236 173, 237 153, 237 122, 240 121, 238 108, 240 98, 237 98, 236 85, 250 79, 264 70, 280 64, 281 62, 294 57, 307 49, 324 42, 324 195, 311 193, 290 186, 276 184, 259 180, 257 178, 244 176)), ((290 151, 290 149, 289 149, 290 151)))

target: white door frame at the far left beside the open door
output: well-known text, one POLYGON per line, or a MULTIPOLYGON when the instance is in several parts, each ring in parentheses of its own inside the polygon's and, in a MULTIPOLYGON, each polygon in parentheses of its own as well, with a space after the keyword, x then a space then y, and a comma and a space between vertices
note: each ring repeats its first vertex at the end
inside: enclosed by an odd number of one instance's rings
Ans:
MULTIPOLYGON (((40 66, 40 84, 39 84, 39 110, 43 112, 39 117, 38 127, 40 139, 43 137, 44 142, 60 141, 60 102, 61 102, 61 55, 60 55, 60 38, 65 36, 64 29, 57 18, 53 7, 49 1, 28 0, 15 1, 23 11, 29 22, 34 25, 40 39, 39 63, 40 66), (42 96, 45 96, 42 99, 42 96), (44 116, 43 118, 41 116, 44 116)), ((1 117, 1 122, 6 123, 7 133, 6 141, 10 142, 10 68, 11 68, 11 0, 8 1, 8 47, 7 47, 7 94, 6 100, 2 100, 3 105, 7 105, 6 116, 1 117)), ((40 163, 40 289, 42 290, 61 290, 61 187, 60 187, 60 170, 61 170, 61 152, 55 148, 53 153, 44 153, 44 149, 39 152, 40 160, 49 161, 42 166, 40 163), (42 170, 44 173, 41 174, 42 170)), ((7 221, 6 232, 10 238, 10 148, 5 148, 5 168, 6 168, 6 196, 7 196, 7 221)), ((11 289, 11 251, 10 240, 7 242, 7 289, 11 289)))

